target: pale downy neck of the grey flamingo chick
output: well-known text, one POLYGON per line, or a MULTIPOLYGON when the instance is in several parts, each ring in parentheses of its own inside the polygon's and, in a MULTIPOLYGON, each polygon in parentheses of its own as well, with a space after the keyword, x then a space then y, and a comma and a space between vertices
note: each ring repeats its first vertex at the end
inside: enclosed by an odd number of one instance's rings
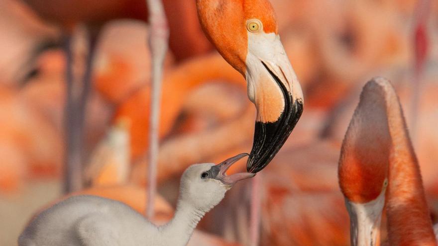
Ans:
POLYGON ((160 228, 162 238, 165 240, 163 245, 187 245, 193 231, 206 212, 180 199, 173 219, 160 228))

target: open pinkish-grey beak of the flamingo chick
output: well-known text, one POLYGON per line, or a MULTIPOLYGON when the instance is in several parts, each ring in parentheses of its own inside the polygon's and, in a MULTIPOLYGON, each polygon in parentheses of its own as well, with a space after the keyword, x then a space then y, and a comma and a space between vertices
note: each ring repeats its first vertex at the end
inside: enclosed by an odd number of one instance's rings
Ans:
POLYGON ((246 156, 248 156, 248 154, 243 153, 243 154, 239 154, 235 157, 231 157, 229 159, 226 159, 225 161, 223 161, 217 165, 214 165, 212 167, 211 171, 217 172, 215 178, 220 180, 223 184, 226 184, 226 185, 233 185, 237 181, 253 177, 255 175, 255 173, 251 173, 251 172, 239 172, 239 173, 234 173, 231 175, 226 175, 226 170, 228 170, 228 168, 232 164, 234 164, 235 162, 237 162, 238 160, 240 160, 246 156))

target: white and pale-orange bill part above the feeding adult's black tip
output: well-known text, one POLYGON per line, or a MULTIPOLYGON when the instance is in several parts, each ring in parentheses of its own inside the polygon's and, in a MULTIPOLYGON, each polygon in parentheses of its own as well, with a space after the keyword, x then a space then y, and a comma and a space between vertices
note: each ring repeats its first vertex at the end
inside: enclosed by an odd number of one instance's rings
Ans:
POLYGON ((257 119, 263 122, 274 122, 284 108, 284 97, 280 85, 275 77, 281 81, 293 100, 303 101, 303 92, 297 76, 289 62, 289 58, 275 33, 265 33, 260 22, 259 31, 251 31, 252 23, 258 20, 247 21, 248 52, 246 56, 246 81, 248 82, 248 97, 256 104, 259 111, 257 119), (266 66, 266 67, 265 67, 266 66), (268 71, 269 69, 269 71, 268 71), (264 108, 260 108, 263 105, 264 108))

